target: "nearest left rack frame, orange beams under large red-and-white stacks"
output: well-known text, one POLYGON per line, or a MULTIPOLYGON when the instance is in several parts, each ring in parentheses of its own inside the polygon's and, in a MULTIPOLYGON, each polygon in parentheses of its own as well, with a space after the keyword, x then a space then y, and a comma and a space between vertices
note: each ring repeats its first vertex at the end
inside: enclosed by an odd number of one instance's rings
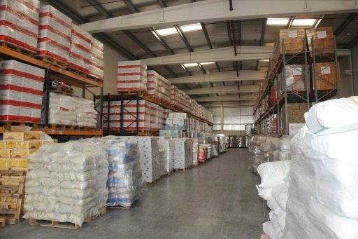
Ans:
MULTIPOLYGON (((45 83, 44 83, 44 92, 43 95, 48 99, 50 94, 50 79, 57 79, 59 81, 63 81, 66 84, 71 86, 76 86, 78 88, 83 89, 83 97, 85 97, 86 92, 92 93, 90 88, 100 88, 101 95, 103 95, 103 81, 96 78, 87 78, 85 76, 80 76, 79 74, 75 74, 66 69, 62 69, 48 62, 43 62, 42 60, 38 60, 31 55, 25 55, 19 51, 7 48, 5 46, 0 46, 0 55, 3 60, 18 60, 20 62, 24 62, 26 64, 31 64, 35 67, 40 67, 45 69, 45 83)), ((94 95, 94 93, 92 93, 94 95)), ((42 125, 41 123, 34 125, 41 125, 42 127, 34 127, 32 130, 43 131, 48 135, 78 135, 78 136, 101 136, 101 121, 99 122, 98 129, 92 130, 81 130, 81 129, 70 129, 70 128, 61 128, 61 129, 53 129, 48 127, 48 107, 49 101, 46 101, 45 107, 42 109, 45 112, 45 123, 42 125)), ((101 107, 102 109, 102 107, 101 107)), ((99 111, 100 116, 102 115, 101 110, 99 111)), ((25 123, 26 124, 26 123, 25 123)), ((0 127, 0 133, 3 132, 3 127, 0 127)))

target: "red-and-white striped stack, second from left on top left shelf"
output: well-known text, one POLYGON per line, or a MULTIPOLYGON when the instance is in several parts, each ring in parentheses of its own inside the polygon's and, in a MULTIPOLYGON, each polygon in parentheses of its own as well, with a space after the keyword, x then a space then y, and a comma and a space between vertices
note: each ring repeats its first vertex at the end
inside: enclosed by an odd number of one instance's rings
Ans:
POLYGON ((41 6, 38 26, 37 55, 48 56, 69 64, 71 18, 50 5, 41 6))

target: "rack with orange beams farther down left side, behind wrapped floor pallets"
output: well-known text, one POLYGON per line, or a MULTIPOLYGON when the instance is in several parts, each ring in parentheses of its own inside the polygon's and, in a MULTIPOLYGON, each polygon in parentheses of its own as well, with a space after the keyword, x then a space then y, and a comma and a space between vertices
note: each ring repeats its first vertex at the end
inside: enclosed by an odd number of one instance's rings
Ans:
MULTIPOLYGON (((100 96, 96 96, 97 98, 99 98, 100 96)), ((188 112, 183 111, 182 109, 179 109, 178 107, 175 107, 171 104, 167 104, 165 102, 162 102, 160 100, 157 100, 155 98, 152 97, 148 97, 148 95, 146 95, 146 93, 143 93, 141 91, 137 91, 137 92, 130 92, 130 93, 120 93, 119 95, 104 95, 103 97, 101 97, 101 99, 103 99, 103 101, 108 102, 108 105, 110 105, 111 101, 120 101, 121 105, 121 111, 120 111, 120 130, 110 130, 110 125, 109 123, 107 124, 107 128, 103 128, 103 135, 158 135, 159 134, 159 130, 147 130, 147 132, 141 132, 141 130, 138 129, 138 118, 139 118, 139 100, 147 100, 148 102, 152 102, 154 104, 159 105, 160 107, 163 107, 165 109, 171 109, 172 111, 175 112, 184 112, 187 113, 187 122, 189 122, 189 118, 195 118, 196 120, 199 120, 201 122, 207 123, 210 126, 213 126, 213 123, 206 121, 203 118, 199 118, 197 116, 194 116, 193 114, 190 114, 188 112), (132 114, 130 112, 128 112, 126 109, 124 109, 124 107, 126 106, 126 104, 124 104, 124 100, 136 100, 136 106, 137 106, 137 110, 135 114, 132 114), (136 125, 136 130, 131 130, 130 132, 127 131, 124 127, 123 127, 123 112, 127 111, 131 116, 133 116, 133 122, 131 122, 131 125, 136 125)), ((103 102, 101 102, 101 106, 103 106, 103 102)), ((101 118, 104 119, 106 122, 110 122, 110 112, 109 112, 109 107, 108 107, 108 111, 106 112, 107 116, 104 114, 105 112, 103 112, 103 114, 101 114, 101 118)), ((187 131, 190 131, 190 127, 189 124, 187 124, 187 131)))

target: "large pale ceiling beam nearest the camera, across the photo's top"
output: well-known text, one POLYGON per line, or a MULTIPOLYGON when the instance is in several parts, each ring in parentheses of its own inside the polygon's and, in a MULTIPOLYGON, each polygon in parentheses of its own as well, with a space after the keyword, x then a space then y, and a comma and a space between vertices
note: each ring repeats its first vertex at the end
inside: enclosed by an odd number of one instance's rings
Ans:
MULTIPOLYGON (((294 15, 319 15, 333 13, 354 13, 358 10, 356 0, 291 0, 282 4, 282 0, 232 0, 235 11, 229 11, 227 1, 206 0, 190 4, 180 4, 141 13, 123 15, 116 18, 99 20, 83 24, 88 32, 110 32, 145 27, 166 27, 186 25, 196 22, 218 22, 224 20, 242 20, 272 18, 294 15)), ((128 0, 124 1, 127 4, 128 0)), ((128 5, 128 4, 127 4, 128 5)))

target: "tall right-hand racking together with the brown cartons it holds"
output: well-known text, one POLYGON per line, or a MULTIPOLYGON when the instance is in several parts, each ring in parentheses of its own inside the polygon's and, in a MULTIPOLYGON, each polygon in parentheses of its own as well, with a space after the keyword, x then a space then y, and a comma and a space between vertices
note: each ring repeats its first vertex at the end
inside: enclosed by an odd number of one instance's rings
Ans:
MULTIPOLYGON (((329 38, 329 28, 324 29, 329 38)), ((304 123, 304 112, 312 104, 328 100, 340 89, 336 39, 331 34, 331 45, 322 47, 322 41, 313 36, 295 42, 301 48, 280 39, 275 44, 266 80, 254 109, 255 127, 262 135, 288 135, 290 123, 304 123), (301 42, 300 42, 301 41, 301 42)), ((327 40, 328 41, 328 40, 327 40)))

